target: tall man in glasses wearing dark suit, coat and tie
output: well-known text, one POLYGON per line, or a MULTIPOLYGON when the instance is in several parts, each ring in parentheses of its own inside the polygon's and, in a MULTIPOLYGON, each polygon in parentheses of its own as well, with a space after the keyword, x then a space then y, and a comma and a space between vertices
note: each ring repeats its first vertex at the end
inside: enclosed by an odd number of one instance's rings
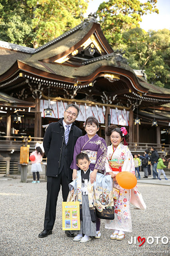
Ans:
MULTIPOLYGON (((60 186, 63 201, 67 201, 68 184, 72 181, 73 170, 70 169, 70 165, 73 160, 74 146, 77 139, 82 136, 82 131, 74 123, 78 114, 77 105, 67 105, 64 117, 58 122, 49 124, 43 138, 43 147, 47 157, 47 202, 44 230, 39 237, 52 234, 60 186)), ((67 236, 74 236, 70 231, 65 233, 67 236)))

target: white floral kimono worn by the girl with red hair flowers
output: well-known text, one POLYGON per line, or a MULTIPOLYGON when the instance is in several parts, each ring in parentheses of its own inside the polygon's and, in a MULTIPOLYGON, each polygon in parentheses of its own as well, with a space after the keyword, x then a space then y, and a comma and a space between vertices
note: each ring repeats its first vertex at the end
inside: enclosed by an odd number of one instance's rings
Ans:
MULTIPOLYGON (((115 174, 118 174, 119 171, 132 172, 135 175, 134 160, 133 156, 128 148, 120 143, 115 152, 113 152, 113 145, 107 147, 107 160, 105 164, 105 171, 111 172, 109 166, 109 161, 117 161, 118 166, 122 166, 114 171, 115 174)), ((134 206, 140 208, 141 210, 146 209, 146 204, 142 199, 142 195, 138 192, 137 187, 134 187, 131 190, 121 188, 117 182, 113 181, 113 187, 120 190, 119 196, 117 199, 114 199, 114 208, 115 208, 115 219, 106 220, 105 228, 113 230, 121 230, 124 232, 132 232, 132 221, 130 216, 130 203, 134 206)))

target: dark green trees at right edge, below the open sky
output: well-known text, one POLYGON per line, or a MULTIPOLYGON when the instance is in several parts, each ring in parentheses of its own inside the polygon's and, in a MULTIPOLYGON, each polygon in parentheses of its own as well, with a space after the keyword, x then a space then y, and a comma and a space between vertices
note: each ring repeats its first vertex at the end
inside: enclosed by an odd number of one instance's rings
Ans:
POLYGON ((123 34, 129 65, 145 70, 148 82, 170 88, 170 31, 134 28, 123 34))

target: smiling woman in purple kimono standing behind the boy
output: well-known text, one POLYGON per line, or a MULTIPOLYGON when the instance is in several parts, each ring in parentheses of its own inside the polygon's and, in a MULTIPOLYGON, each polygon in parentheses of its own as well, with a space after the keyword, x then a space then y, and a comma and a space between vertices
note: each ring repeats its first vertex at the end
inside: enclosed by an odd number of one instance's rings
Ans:
MULTIPOLYGON (((91 161, 90 169, 93 171, 90 175, 91 183, 96 180, 97 172, 104 173, 105 161, 107 156, 107 144, 105 140, 99 137, 96 133, 99 130, 99 122, 94 116, 89 116, 85 122, 85 131, 87 134, 81 136, 77 139, 74 147, 73 162, 70 166, 73 169, 73 180, 77 176, 77 163, 76 156, 78 154, 86 153, 91 161)), ((100 219, 97 218, 96 221, 96 236, 95 238, 100 238, 100 219)))

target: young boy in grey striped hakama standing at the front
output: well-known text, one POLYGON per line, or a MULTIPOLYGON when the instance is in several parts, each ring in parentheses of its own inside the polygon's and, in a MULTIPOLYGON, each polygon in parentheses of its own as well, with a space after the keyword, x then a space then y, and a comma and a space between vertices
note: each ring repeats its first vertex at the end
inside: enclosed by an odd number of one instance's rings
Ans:
MULTIPOLYGON (((99 180, 105 179, 105 182, 113 187, 113 181, 111 175, 104 176, 97 172, 96 182, 91 184, 90 174, 92 171, 89 168, 90 160, 87 154, 80 153, 76 156, 77 166, 80 170, 77 171, 77 178, 69 184, 71 194, 74 194, 75 199, 80 202, 80 230, 78 230, 77 236, 73 241, 88 242, 91 240, 90 236, 96 238, 97 234, 100 233, 96 230, 96 212, 94 208, 95 204, 95 186, 99 184, 99 180), (84 236, 83 236, 84 234, 84 236)), ((113 198, 113 188, 108 198, 111 201, 113 198)), ((101 235, 101 234, 99 234, 101 235)), ((97 237, 97 238, 100 238, 97 237)))

